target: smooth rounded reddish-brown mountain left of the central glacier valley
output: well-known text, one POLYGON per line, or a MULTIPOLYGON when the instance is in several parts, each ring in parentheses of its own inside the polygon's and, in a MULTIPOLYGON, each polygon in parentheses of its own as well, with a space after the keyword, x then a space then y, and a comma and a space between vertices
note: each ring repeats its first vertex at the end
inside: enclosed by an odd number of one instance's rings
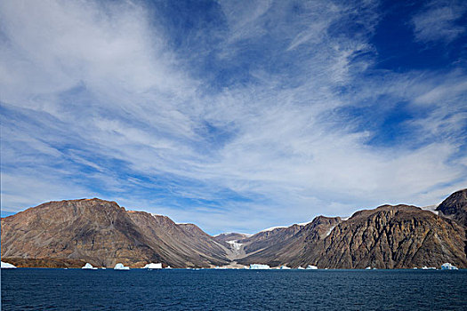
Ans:
POLYGON ((206 236, 164 217, 125 211, 115 202, 50 202, 2 219, 2 258, 80 259, 98 267, 226 262, 221 245, 206 236))

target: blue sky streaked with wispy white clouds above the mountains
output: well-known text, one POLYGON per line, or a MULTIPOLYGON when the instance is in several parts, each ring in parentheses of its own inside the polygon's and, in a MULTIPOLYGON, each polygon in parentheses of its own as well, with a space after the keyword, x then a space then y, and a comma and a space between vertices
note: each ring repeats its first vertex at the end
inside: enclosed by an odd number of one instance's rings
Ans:
POLYGON ((2 215, 211 235, 467 187, 465 1, 0 2, 2 215))

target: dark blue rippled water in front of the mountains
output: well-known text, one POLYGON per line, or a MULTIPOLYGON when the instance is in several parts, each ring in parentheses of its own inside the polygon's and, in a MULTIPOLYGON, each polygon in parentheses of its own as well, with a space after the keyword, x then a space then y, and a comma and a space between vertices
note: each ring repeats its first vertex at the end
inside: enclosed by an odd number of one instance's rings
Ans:
POLYGON ((467 270, 2 270, 2 310, 467 310, 467 270))

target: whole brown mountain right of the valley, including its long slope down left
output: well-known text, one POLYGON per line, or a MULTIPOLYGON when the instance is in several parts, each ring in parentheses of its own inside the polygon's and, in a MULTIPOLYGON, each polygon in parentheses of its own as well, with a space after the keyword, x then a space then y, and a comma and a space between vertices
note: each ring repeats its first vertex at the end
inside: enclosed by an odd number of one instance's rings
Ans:
POLYGON ((358 211, 345 221, 317 218, 297 234, 239 262, 320 268, 439 267, 451 262, 467 267, 463 237, 462 226, 431 211, 383 205, 358 211))

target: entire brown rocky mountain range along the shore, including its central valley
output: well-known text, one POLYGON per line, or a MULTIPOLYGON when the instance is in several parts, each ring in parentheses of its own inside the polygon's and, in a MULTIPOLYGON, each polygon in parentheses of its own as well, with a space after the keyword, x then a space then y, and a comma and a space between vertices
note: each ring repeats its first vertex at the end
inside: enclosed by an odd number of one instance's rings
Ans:
POLYGON ((193 224, 126 211, 99 199, 44 203, 2 219, 2 260, 15 265, 75 267, 83 262, 141 267, 398 268, 467 267, 467 189, 436 211, 382 205, 349 219, 319 216, 310 223, 276 227, 255 235, 205 234, 193 224), (60 266, 61 265, 61 266, 60 266))

